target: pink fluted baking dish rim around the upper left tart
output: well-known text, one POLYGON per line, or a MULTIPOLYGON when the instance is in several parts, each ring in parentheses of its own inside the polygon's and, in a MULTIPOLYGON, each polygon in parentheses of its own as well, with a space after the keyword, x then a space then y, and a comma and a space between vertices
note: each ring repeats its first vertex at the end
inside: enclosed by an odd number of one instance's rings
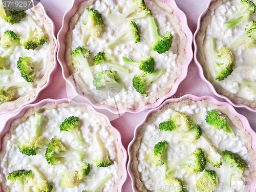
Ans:
POLYGON ((25 101, 25 102, 24 102, 22 105, 20 105, 17 109, 14 109, 14 110, 4 110, 3 112, 0 113, 0 115, 3 114, 3 113, 16 113, 16 112, 18 112, 23 106, 25 106, 25 105, 27 105, 27 104, 29 104, 29 103, 34 102, 34 101, 40 96, 40 92, 41 92, 42 90, 46 89, 47 87, 49 87, 49 86, 51 85, 51 81, 52 81, 53 78, 54 78, 53 75, 52 75, 52 73, 53 73, 53 71, 55 71, 56 68, 57 68, 56 53, 57 53, 57 50, 58 50, 57 38, 56 38, 56 36, 55 36, 55 25, 54 25, 52 19, 47 15, 44 6, 42 6, 41 3, 38 3, 36 6, 39 6, 39 7, 42 9, 42 11, 44 12, 44 15, 45 15, 46 20, 48 20, 48 22, 49 22, 49 23, 51 24, 51 26, 52 26, 52 36, 53 36, 53 40, 54 40, 54 42, 55 42, 55 49, 54 49, 54 53, 53 53, 54 66, 53 66, 53 68, 51 69, 50 73, 48 74, 46 84, 45 84, 44 86, 42 86, 42 87, 37 91, 37 93, 36 93, 36 95, 35 95, 35 97, 34 97, 33 99, 30 99, 30 100, 28 100, 28 101, 25 101))

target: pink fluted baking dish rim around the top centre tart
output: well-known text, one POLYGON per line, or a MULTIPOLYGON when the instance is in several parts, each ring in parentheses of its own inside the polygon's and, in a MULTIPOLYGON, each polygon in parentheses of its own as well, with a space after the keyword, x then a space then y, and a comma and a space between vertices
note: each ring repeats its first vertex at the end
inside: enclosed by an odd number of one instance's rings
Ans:
POLYGON ((133 109, 130 109, 130 108, 124 108, 124 109, 117 110, 117 109, 115 109, 115 108, 113 108, 109 105, 97 103, 92 97, 84 95, 83 93, 82 94, 79 93, 79 91, 78 91, 79 89, 76 87, 74 79, 69 74, 69 70, 66 66, 65 58, 63 57, 63 55, 65 55, 65 50, 66 50, 66 45, 65 45, 65 42, 63 41, 63 37, 66 35, 67 31, 69 30, 69 21, 70 21, 71 17, 76 13, 79 4, 83 1, 84 0, 75 0, 74 1, 73 6, 63 16, 62 27, 61 27, 58 35, 57 35, 57 40, 58 40, 58 45, 59 45, 59 49, 58 49, 58 52, 57 52, 57 59, 58 59, 58 61, 60 63, 60 66, 62 68, 63 77, 71 85, 74 92, 77 95, 80 95, 81 97, 86 98, 90 102, 90 104, 92 104, 95 108, 105 109, 105 110, 108 110, 108 111, 110 111, 114 114, 119 114, 119 113, 124 113, 124 112, 139 113, 139 112, 141 112, 145 109, 153 109, 153 108, 156 108, 157 106, 159 106, 166 98, 173 96, 176 93, 179 84, 186 78, 188 65, 191 62, 191 60, 193 59, 193 50, 192 50, 192 47, 191 47, 192 41, 193 41, 193 34, 191 33, 190 29, 187 26, 186 15, 184 14, 184 12, 182 12, 178 8, 175 1, 174 0, 161 0, 162 2, 166 2, 166 3, 170 4, 170 6, 173 8, 173 10, 174 10, 173 14, 180 18, 180 21, 181 21, 181 24, 182 24, 182 31, 187 36, 187 45, 186 45, 186 48, 185 48, 185 52, 186 52, 187 57, 186 57, 186 61, 183 63, 182 73, 181 73, 180 77, 176 80, 172 90, 170 90, 169 93, 167 93, 166 95, 161 96, 155 103, 151 103, 151 104, 141 106, 140 108, 138 108, 136 110, 133 110, 133 109))

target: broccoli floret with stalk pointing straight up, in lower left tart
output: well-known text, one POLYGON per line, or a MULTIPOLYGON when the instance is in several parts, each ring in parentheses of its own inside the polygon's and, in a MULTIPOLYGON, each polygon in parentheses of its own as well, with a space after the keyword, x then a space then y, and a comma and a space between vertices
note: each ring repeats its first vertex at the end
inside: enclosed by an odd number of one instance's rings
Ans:
POLYGON ((36 155, 37 148, 42 147, 40 135, 42 114, 35 113, 34 123, 32 126, 32 137, 29 141, 20 141, 18 144, 19 152, 25 155, 36 155))

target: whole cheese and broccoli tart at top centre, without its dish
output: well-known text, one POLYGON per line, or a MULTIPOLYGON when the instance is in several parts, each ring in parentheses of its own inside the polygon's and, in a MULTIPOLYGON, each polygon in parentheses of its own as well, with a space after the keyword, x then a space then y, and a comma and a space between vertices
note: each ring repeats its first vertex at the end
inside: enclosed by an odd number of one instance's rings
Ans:
POLYGON ((181 75, 187 38, 159 0, 89 0, 70 19, 65 61, 79 91, 136 109, 168 93, 181 75))

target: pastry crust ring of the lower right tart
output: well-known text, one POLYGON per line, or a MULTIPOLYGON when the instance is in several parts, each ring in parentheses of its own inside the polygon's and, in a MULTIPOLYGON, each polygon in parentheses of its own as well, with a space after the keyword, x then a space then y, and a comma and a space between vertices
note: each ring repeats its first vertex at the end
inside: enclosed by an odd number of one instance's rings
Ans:
MULTIPOLYGON (((131 165, 130 165, 130 169, 132 174, 134 175, 134 182, 135 182, 135 186, 137 187, 137 189, 139 191, 143 191, 143 192, 147 192, 147 190, 145 189, 146 187, 143 185, 143 183, 140 180, 140 175, 138 172, 138 159, 137 159, 137 152, 139 150, 140 147, 140 142, 141 139, 146 131, 146 127, 148 124, 153 123, 156 118, 163 113, 166 109, 176 109, 179 108, 179 106, 184 106, 184 105, 193 105, 193 104, 198 104, 200 106, 203 106, 204 108, 214 108, 218 111, 220 111, 222 114, 225 114, 230 121, 233 123, 233 126, 235 126, 239 131, 241 136, 244 138, 245 141, 247 141, 247 150, 248 150, 248 156, 249 156, 249 164, 250 166, 247 168, 249 171, 249 178, 248 181, 246 183, 244 183, 244 185, 250 185, 251 182, 255 179, 256 177, 256 171, 253 167, 254 161, 256 159, 256 153, 255 151, 251 148, 251 144, 252 144, 252 138, 251 135, 249 134, 249 132, 247 132, 245 130, 245 127, 243 126, 242 122, 240 121, 240 119, 236 116, 234 116, 233 114, 231 114, 231 112, 225 107, 225 106, 217 106, 212 104, 210 101, 207 100, 203 100, 203 101, 193 101, 190 99, 184 99, 180 102, 177 103, 168 103, 166 105, 163 106, 163 108, 157 110, 156 112, 153 112, 146 120, 146 122, 140 126, 138 128, 137 131, 137 137, 136 140, 134 141, 134 143, 131 146, 131 165)), ((248 191, 247 189, 244 190, 239 190, 240 192, 245 192, 248 191)))

